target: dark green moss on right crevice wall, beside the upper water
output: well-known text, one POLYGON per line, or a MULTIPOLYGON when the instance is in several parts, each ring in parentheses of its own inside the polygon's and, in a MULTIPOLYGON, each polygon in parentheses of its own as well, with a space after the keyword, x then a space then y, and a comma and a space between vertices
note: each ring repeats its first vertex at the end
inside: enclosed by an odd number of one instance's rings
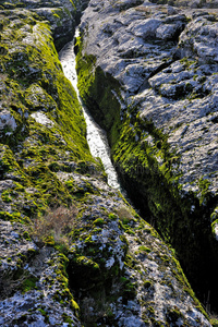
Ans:
POLYGON ((120 85, 111 75, 105 75, 99 66, 95 70, 94 56, 82 56, 82 40, 78 41, 78 47, 76 70, 80 95, 96 121, 109 132, 109 142, 113 144, 119 135, 120 125, 120 104, 113 90, 119 92, 120 85))

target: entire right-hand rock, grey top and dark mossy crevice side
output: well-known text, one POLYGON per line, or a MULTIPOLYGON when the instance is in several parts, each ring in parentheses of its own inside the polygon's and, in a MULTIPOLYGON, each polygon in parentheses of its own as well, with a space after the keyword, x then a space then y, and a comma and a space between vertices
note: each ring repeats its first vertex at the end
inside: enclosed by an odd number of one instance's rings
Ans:
POLYGON ((216 306, 217 2, 89 2, 78 88, 130 196, 216 306))

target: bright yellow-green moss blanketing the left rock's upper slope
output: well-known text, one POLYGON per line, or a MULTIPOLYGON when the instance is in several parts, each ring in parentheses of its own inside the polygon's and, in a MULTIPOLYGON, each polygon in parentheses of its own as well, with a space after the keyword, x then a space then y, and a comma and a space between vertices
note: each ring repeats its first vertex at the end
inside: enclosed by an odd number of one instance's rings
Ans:
POLYGON ((87 173, 93 167, 92 173, 101 174, 102 169, 89 154, 82 108, 63 75, 49 25, 31 12, 16 15, 12 21, 8 11, 1 12, 1 44, 9 49, 1 56, 1 98, 16 125, 5 125, 0 135, 0 174, 15 179, 1 194, 13 213, 2 210, 1 216, 26 222, 26 217, 44 215, 55 202, 71 205, 74 196, 56 172, 87 173), (43 112, 50 125, 32 118, 35 112, 43 112))

